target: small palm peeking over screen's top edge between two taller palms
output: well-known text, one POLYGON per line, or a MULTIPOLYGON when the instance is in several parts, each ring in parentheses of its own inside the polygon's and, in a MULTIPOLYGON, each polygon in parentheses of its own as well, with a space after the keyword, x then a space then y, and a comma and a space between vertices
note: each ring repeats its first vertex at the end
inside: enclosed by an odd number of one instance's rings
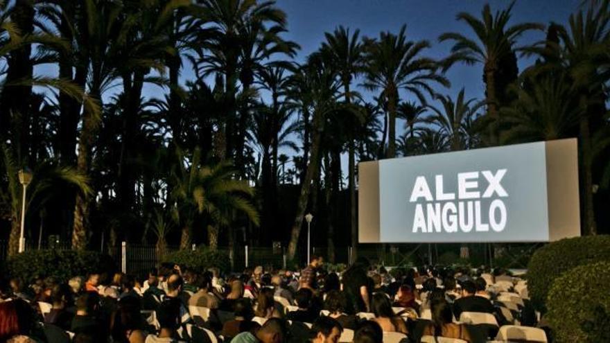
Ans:
POLYGON ((455 101, 450 96, 436 96, 436 98, 442 104, 442 109, 428 105, 433 115, 428 116, 426 121, 435 125, 438 132, 447 137, 452 151, 467 148, 466 125, 476 118, 478 109, 484 103, 476 102, 474 98, 464 101, 464 88, 455 101))

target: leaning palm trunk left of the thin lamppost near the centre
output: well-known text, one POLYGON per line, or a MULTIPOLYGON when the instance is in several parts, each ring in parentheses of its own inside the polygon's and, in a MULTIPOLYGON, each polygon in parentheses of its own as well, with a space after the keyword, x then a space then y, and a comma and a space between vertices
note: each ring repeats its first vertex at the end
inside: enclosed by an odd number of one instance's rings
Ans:
POLYGON ((292 261, 295 258, 297 252, 297 244, 299 243, 299 236, 301 234, 301 227, 303 224, 303 216, 307 209, 307 200, 309 192, 311 191, 311 182, 315 178, 316 173, 320 173, 320 147, 322 145, 322 132, 324 131, 324 118, 322 113, 316 111, 313 118, 313 144, 311 146, 311 158, 307 164, 307 172, 305 174, 304 182, 301 184, 301 193, 299 195, 299 202, 297 203, 297 213, 293 228, 290 231, 290 243, 288 244, 288 260, 292 261))

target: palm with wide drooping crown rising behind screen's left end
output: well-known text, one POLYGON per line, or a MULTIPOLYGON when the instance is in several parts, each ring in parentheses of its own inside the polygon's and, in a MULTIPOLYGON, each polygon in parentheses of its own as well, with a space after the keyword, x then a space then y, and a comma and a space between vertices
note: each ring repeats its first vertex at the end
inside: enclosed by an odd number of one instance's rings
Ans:
POLYGON ((388 142, 387 156, 396 155, 396 118, 399 103, 399 90, 406 89, 426 103, 424 92, 432 95, 430 83, 448 87, 449 82, 437 73, 438 64, 430 58, 421 57, 421 52, 430 47, 422 40, 408 41, 406 26, 398 35, 382 32, 379 39, 365 39, 367 60, 364 87, 370 90, 381 89, 381 98, 387 101, 388 142))

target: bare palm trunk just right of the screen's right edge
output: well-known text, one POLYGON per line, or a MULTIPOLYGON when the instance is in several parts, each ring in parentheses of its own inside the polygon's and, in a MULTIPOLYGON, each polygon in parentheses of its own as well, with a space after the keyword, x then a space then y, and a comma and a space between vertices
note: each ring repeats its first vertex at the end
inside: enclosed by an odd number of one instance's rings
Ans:
POLYGON ((597 234, 595 211, 593 210, 593 174, 591 171, 591 128, 589 116, 583 114, 580 118, 580 153, 582 155, 582 189, 583 189, 583 224, 584 234, 597 234))

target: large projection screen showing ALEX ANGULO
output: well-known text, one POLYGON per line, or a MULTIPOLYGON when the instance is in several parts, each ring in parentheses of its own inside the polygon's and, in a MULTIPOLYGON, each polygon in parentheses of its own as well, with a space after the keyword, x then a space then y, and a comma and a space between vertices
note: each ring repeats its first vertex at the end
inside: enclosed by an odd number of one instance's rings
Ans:
POLYGON ((360 243, 580 236, 576 139, 362 162, 360 243))

